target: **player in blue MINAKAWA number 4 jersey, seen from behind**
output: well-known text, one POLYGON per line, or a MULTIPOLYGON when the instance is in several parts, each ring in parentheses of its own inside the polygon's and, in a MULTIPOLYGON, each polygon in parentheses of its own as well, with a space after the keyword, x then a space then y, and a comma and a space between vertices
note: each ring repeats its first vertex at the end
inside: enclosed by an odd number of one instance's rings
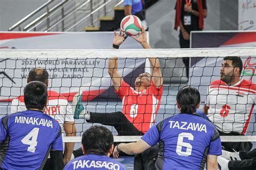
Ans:
POLYGON ((47 87, 32 81, 24 88, 26 111, 0 119, 1 169, 43 169, 49 153, 53 169, 63 169, 61 129, 55 119, 44 114, 47 87))

